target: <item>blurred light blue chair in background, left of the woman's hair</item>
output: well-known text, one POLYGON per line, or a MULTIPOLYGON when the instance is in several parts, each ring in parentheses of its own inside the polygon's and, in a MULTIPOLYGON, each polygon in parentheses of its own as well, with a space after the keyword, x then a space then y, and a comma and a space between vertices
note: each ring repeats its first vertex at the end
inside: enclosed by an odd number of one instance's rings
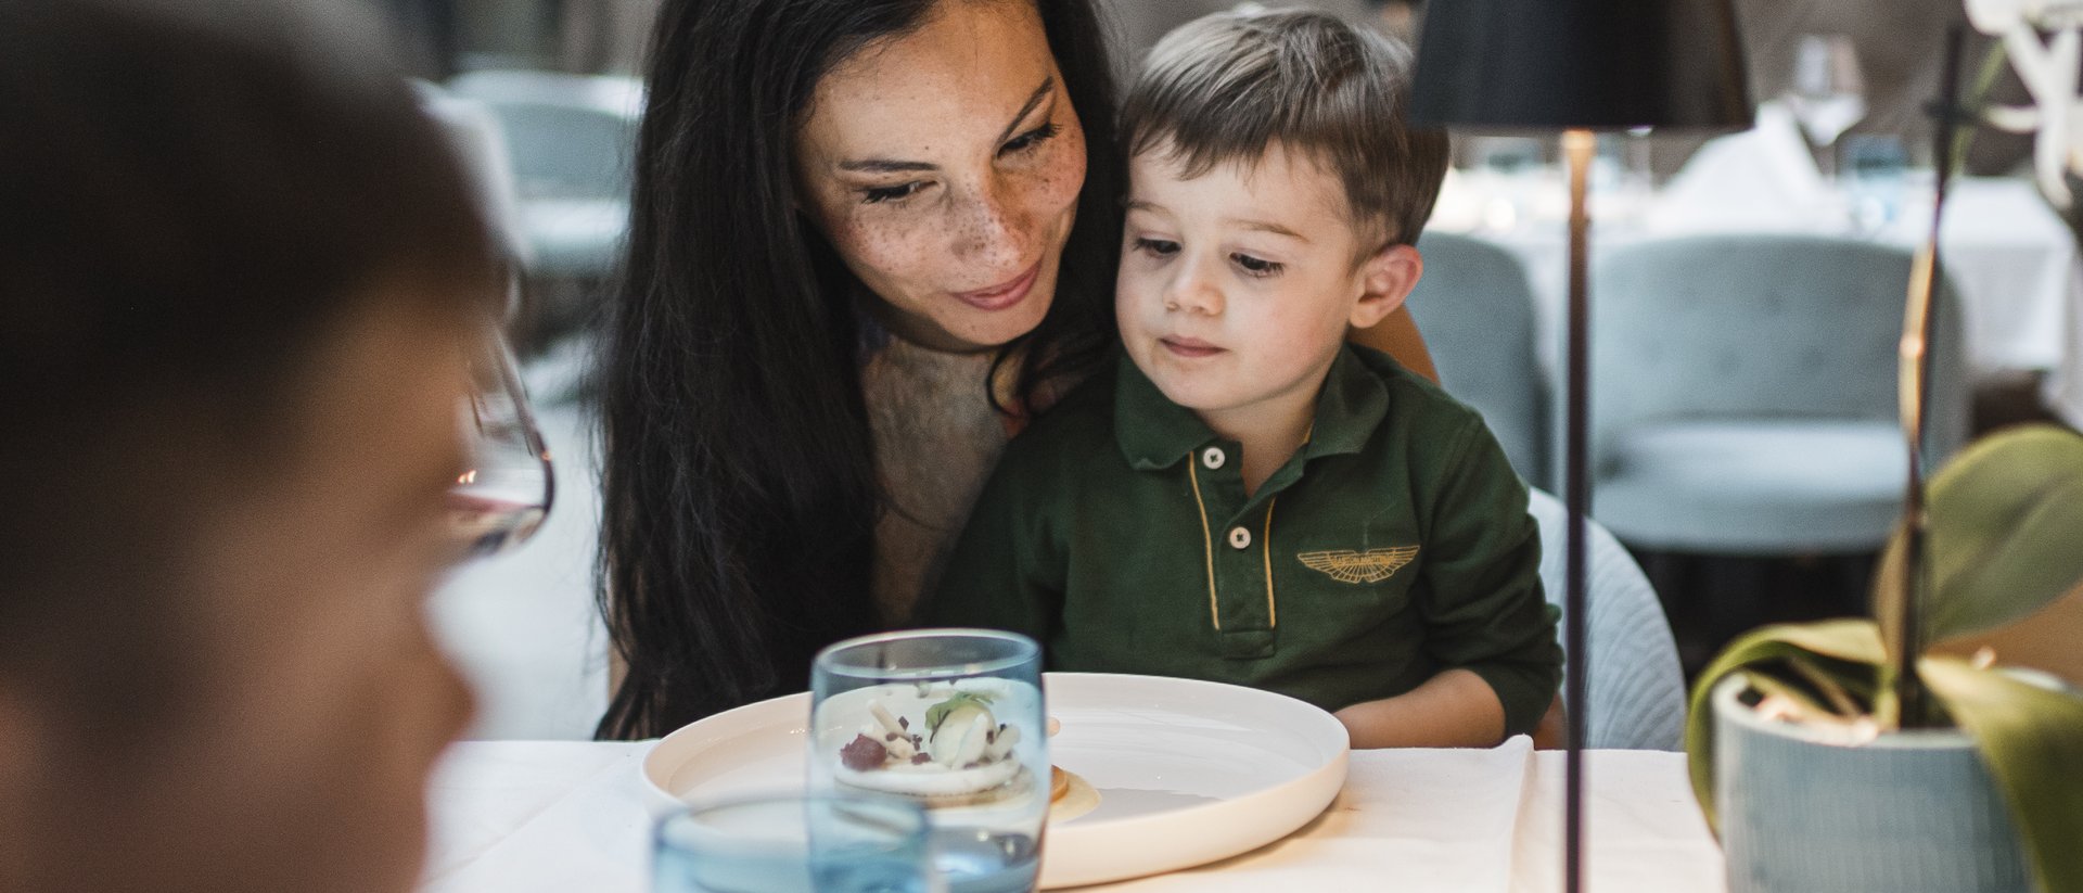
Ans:
POLYGON ((469 71, 448 81, 500 121, 531 275, 600 279, 629 231, 644 85, 631 77, 469 71))

